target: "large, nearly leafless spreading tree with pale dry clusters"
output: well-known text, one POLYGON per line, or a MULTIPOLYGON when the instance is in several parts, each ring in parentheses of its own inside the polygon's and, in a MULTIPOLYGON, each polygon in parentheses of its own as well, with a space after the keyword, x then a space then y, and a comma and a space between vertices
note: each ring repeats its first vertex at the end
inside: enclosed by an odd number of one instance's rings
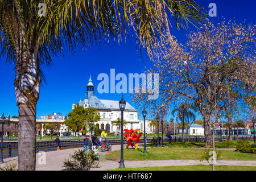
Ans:
POLYGON ((148 100, 149 93, 138 93, 134 101, 144 102, 154 115, 168 115, 173 105, 194 102, 204 120, 205 147, 213 146, 210 118, 226 91, 226 80, 237 78, 230 80, 236 86, 243 77, 244 83, 255 86, 255 26, 209 22, 189 34, 185 46, 173 36, 166 39, 168 44, 160 47, 162 55, 146 71, 159 73, 158 99, 148 100))

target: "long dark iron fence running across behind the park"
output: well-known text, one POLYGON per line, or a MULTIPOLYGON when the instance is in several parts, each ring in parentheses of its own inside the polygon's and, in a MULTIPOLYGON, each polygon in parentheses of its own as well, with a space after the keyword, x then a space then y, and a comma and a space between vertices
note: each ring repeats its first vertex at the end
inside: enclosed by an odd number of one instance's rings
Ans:
MULTIPOLYGON (((159 135, 160 137, 160 135, 159 135)), ((152 143, 153 138, 147 138, 146 142, 147 143, 152 143)), ((228 140, 229 137, 216 137, 215 141, 222 141, 228 140)), ((233 137, 233 139, 246 139, 246 140, 251 140, 253 137, 233 137)), ((164 137, 163 142, 168 142, 168 138, 164 137)), ((184 137, 185 142, 204 142, 204 137, 184 137)), ((121 144, 120 138, 102 138, 102 143, 109 142, 112 145, 115 144, 121 144)), ((154 142, 156 142, 156 138, 154 139, 154 142)), ((162 141, 161 141, 162 142, 162 141)), ((171 142, 181 142, 181 137, 172 137, 171 142)), ((144 143, 143 138, 141 139, 141 142, 139 143, 144 143)), ((127 144, 126 140, 123 140, 123 144, 127 144)), ((84 146, 84 141, 82 139, 79 140, 61 140, 60 141, 60 149, 68 149, 68 148, 77 148, 77 147, 83 147, 84 146)), ((91 142, 88 142, 88 146, 91 146, 91 142)), ((54 140, 48 140, 48 141, 38 141, 36 142, 36 153, 39 151, 55 151, 57 150, 56 147, 56 142, 54 140)), ((18 142, 4 142, 3 143, 3 158, 12 158, 18 156, 18 142)))

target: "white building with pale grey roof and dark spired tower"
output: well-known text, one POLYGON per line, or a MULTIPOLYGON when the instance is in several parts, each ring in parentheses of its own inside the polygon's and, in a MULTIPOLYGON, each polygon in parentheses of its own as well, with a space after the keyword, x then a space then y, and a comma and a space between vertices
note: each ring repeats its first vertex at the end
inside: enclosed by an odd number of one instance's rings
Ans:
MULTIPOLYGON (((94 85, 91 78, 86 86, 86 96, 84 100, 79 101, 79 105, 86 107, 93 107, 98 110, 101 119, 95 123, 99 129, 109 130, 110 133, 118 131, 117 126, 113 125, 113 121, 117 118, 121 119, 121 110, 119 109, 119 101, 99 99, 94 96, 94 85)), ((75 103, 72 105, 72 110, 75 108, 75 103)), ((134 109, 128 102, 126 102, 125 111, 123 111, 123 119, 127 125, 123 129, 144 129, 143 119, 138 119, 138 111, 134 109)), ((146 120, 146 133, 152 133, 152 127, 148 126, 149 121, 146 120)))

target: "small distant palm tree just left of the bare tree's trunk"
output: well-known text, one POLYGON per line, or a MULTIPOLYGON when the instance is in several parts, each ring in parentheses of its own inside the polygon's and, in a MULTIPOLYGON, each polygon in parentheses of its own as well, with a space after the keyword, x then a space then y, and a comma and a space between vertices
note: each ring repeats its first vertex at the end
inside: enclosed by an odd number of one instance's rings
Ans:
POLYGON ((177 114, 177 119, 179 119, 182 122, 182 142, 184 142, 184 127, 185 122, 189 123, 189 121, 195 120, 195 114, 192 113, 189 109, 194 109, 195 106, 191 104, 183 104, 181 103, 179 107, 176 107, 172 110, 172 115, 175 116, 177 114))

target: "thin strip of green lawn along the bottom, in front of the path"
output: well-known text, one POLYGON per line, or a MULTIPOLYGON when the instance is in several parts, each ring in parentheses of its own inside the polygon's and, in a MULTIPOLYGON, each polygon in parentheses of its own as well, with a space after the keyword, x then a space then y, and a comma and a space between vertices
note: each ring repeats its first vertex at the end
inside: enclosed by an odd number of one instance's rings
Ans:
MULTIPOLYGON (((256 171, 256 166, 215 166, 215 171, 256 171)), ((164 166, 164 167, 138 167, 138 168, 116 168, 109 171, 212 171, 212 166, 164 166)))

